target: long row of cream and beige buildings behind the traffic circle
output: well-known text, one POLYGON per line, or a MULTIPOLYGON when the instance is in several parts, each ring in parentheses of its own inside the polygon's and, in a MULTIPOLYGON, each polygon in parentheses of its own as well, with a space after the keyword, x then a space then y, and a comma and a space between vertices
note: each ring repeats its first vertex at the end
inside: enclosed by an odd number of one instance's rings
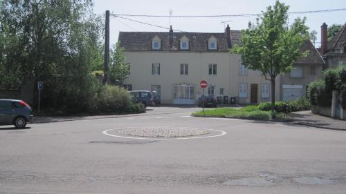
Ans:
MULTIPOLYGON (((197 104, 203 94, 199 86, 208 81, 206 95, 238 97, 239 104, 271 100, 271 84, 260 72, 248 70, 239 55, 228 50, 239 42, 241 32, 120 32, 120 46, 130 64, 129 90, 151 90, 162 104, 197 104)), ((276 79, 275 99, 298 99, 313 79, 320 79, 324 61, 310 41, 302 46, 308 57, 294 70, 276 79)))

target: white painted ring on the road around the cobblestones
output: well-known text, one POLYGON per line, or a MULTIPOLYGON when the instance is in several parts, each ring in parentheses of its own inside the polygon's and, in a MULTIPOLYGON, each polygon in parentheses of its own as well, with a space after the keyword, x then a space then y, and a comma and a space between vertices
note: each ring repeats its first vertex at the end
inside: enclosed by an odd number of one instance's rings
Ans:
POLYGON ((224 136, 227 133, 224 130, 217 130, 217 129, 210 129, 210 128, 201 128, 203 130, 212 130, 212 131, 217 131, 220 134, 218 135, 210 135, 210 136, 201 136, 201 137, 171 137, 171 138, 153 138, 153 137, 129 137, 129 136, 122 136, 122 135, 113 135, 108 133, 111 130, 119 130, 119 129, 124 129, 124 128, 136 128, 136 127, 121 127, 121 128, 111 128, 102 131, 104 135, 108 135, 111 137, 120 137, 120 138, 126 138, 126 139, 149 139, 149 140, 174 140, 174 139, 202 139, 202 138, 210 138, 210 137, 220 137, 224 136))

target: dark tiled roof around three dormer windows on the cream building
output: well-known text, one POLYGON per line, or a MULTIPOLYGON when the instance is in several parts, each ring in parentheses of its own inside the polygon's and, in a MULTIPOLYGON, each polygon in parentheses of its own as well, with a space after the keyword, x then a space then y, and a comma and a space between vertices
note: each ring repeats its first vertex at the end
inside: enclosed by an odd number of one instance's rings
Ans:
MULTIPOLYGON (((238 43, 241 32, 239 30, 230 30, 230 34, 231 44, 238 43)), ((228 43, 224 33, 173 32, 174 39, 170 44, 170 32, 120 32, 118 41, 125 50, 146 51, 152 50, 152 38, 158 36, 162 41, 161 50, 174 51, 179 50, 179 40, 184 35, 190 41, 190 51, 208 51, 207 41, 212 36, 217 39, 218 51, 228 51, 228 43)))

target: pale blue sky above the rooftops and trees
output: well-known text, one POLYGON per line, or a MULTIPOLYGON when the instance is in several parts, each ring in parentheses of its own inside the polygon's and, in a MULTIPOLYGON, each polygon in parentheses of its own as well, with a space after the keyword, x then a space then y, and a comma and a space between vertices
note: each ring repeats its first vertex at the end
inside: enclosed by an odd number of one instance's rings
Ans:
MULTIPOLYGON (((327 10, 346 8, 346 1, 342 0, 287 0, 282 1, 290 6, 289 12, 327 10)), ((172 10, 172 15, 215 15, 215 14, 257 14, 266 10, 267 6, 273 6, 275 0, 261 1, 221 1, 221 0, 126 0, 109 1, 94 0, 94 12, 104 14, 105 10, 110 10, 115 14, 162 14, 168 15, 172 10)), ((318 32, 318 42, 320 41, 320 26, 323 22, 331 26, 333 23, 345 23, 346 11, 322 12, 316 14, 291 14, 290 23, 296 17, 307 17, 307 26, 310 30, 318 32)), ((224 32, 224 25, 229 24, 231 30, 242 30, 247 28, 248 21, 255 21, 256 17, 227 17, 227 18, 171 18, 174 29, 186 32, 224 32), (221 23, 222 21, 228 21, 221 23)), ((169 18, 147 18, 129 17, 145 23, 152 23, 158 26, 170 26, 169 18)), ((165 32, 163 28, 156 28, 144 24, 127 21, 125 19, 111 19, 110 21, 110 41, 111 44, 118 41, 120 31, 154 31, 165 32)))

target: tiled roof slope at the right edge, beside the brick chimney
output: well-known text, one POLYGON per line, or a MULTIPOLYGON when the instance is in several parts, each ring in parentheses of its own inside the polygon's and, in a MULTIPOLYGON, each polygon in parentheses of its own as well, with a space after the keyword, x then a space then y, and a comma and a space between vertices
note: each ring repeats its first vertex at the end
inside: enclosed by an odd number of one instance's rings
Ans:
POLYGON ((343 28, 334 37, 328 41, 328 52, 343 53, 343 47, 346 43, 346 23, 343 28))

